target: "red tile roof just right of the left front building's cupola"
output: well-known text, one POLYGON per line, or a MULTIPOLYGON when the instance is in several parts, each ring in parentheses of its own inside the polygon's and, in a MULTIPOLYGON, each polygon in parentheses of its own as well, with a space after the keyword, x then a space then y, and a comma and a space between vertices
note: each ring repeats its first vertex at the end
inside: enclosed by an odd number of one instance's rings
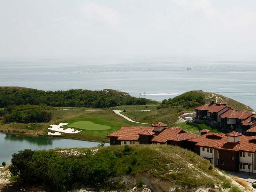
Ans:
POLYGON ((171 141, 182 141, 188 140, 192 138, 196 138, 198 135, 188 133, 178 128, 165 128, 162 132, 155 135, 151 141, 156 143, 165 143, 168 140, 171 141))

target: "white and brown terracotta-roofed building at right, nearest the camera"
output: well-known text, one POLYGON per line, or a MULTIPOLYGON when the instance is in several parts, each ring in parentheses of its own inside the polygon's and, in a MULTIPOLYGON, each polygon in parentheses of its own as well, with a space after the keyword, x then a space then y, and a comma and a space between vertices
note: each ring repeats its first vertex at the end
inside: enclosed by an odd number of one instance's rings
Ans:
POLYGON ((226 171, 256 173, 256 138, 239 132, 228 134, 208 132, 188 140, 194 143, 201 157, 226 171))

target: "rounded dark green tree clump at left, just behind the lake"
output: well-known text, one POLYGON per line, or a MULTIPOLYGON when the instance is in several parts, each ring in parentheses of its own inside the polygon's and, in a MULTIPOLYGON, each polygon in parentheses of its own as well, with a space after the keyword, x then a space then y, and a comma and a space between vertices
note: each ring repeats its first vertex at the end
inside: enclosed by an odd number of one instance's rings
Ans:
POLYGON ((0 111, 0 116, 4 116, 3 123, 41 123, 51 120, 52 115, 46 111, 52 107, 46 105, 12 105, 0 111))

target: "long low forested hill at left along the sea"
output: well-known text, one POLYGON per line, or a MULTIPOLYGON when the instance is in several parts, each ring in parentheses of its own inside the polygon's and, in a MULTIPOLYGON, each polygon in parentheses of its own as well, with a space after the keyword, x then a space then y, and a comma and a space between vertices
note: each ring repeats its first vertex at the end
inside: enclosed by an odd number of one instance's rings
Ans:
POLYGON ((40 91, 22 87, 0 87, 0 108, 11 105, 46 104, 53 107, 109 108, 118 105, 145 105, 154 103, 145 98, 132 97, 128 93, 112 89, 90 91, 40 91))

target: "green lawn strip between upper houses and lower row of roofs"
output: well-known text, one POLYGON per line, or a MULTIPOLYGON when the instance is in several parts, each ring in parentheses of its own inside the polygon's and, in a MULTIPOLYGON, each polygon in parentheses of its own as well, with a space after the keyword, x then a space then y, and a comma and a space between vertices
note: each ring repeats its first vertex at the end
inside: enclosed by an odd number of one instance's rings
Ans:
POLYGON ((194 133, 196 135, 200 135, 199 131, 202 129, 208 129, 210 130, 210 132, 214 132, 214 133, 223 133, 204 123, 190 122, 189 124, 187 124, 186 122, 184 122, 184 123, 175 124, 175 126, 173 127, 180 127, 180 129, 183 129, 186 132, 194 133))

